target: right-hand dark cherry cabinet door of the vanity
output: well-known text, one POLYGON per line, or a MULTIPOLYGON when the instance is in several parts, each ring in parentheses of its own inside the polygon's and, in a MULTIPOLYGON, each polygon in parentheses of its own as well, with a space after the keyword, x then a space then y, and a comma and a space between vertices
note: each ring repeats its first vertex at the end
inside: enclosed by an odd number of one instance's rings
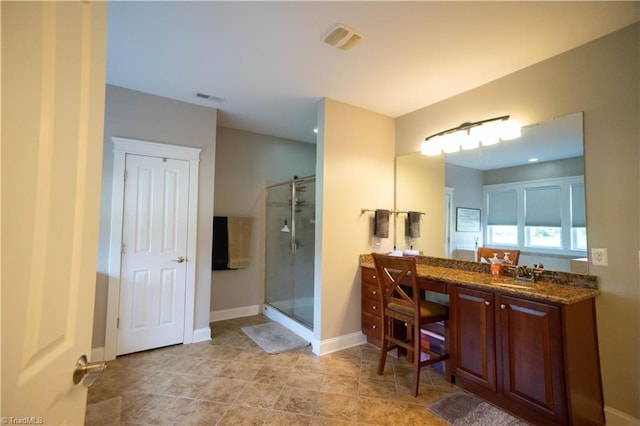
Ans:
POLYGON ((500 296, 502 393, 556 421, 565 416, 560 308, 500 296))

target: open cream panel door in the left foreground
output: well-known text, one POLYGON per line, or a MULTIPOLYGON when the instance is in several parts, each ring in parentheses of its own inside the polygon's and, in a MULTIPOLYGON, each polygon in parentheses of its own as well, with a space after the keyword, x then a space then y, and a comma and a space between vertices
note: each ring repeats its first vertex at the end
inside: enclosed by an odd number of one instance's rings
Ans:
POLYGON ((2 2, 2 423, 84 422, 106 3, 2 2))

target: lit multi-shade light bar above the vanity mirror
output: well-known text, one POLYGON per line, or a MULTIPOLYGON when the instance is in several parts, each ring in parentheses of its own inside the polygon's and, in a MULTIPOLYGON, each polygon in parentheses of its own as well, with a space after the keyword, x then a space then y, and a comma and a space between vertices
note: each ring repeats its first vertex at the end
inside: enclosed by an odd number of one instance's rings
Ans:
POLYGON ((431 135, 422 142, 422 154, 450 154, 460 149, 475 149, 480 144, 494 145, 500 141, 519 138, 520 135, 520 123, 503 115, 475 123, 462 123, 453 129, 431 135))

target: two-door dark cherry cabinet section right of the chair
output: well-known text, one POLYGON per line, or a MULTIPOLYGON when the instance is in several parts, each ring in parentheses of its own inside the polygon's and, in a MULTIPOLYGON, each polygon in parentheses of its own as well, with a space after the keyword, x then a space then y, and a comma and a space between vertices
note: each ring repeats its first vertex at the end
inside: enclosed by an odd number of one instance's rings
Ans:
POLYGON ((450 289, 456 383, 534 424, 604 424, 593 299, 450 289))

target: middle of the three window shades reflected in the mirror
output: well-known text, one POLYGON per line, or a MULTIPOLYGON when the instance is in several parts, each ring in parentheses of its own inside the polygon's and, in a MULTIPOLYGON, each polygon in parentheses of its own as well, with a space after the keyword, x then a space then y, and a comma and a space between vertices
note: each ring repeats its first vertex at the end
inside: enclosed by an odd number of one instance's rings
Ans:
POLYGON ((525 226, 562 226, 562 199, 559 186, 525 189, 525 226))

